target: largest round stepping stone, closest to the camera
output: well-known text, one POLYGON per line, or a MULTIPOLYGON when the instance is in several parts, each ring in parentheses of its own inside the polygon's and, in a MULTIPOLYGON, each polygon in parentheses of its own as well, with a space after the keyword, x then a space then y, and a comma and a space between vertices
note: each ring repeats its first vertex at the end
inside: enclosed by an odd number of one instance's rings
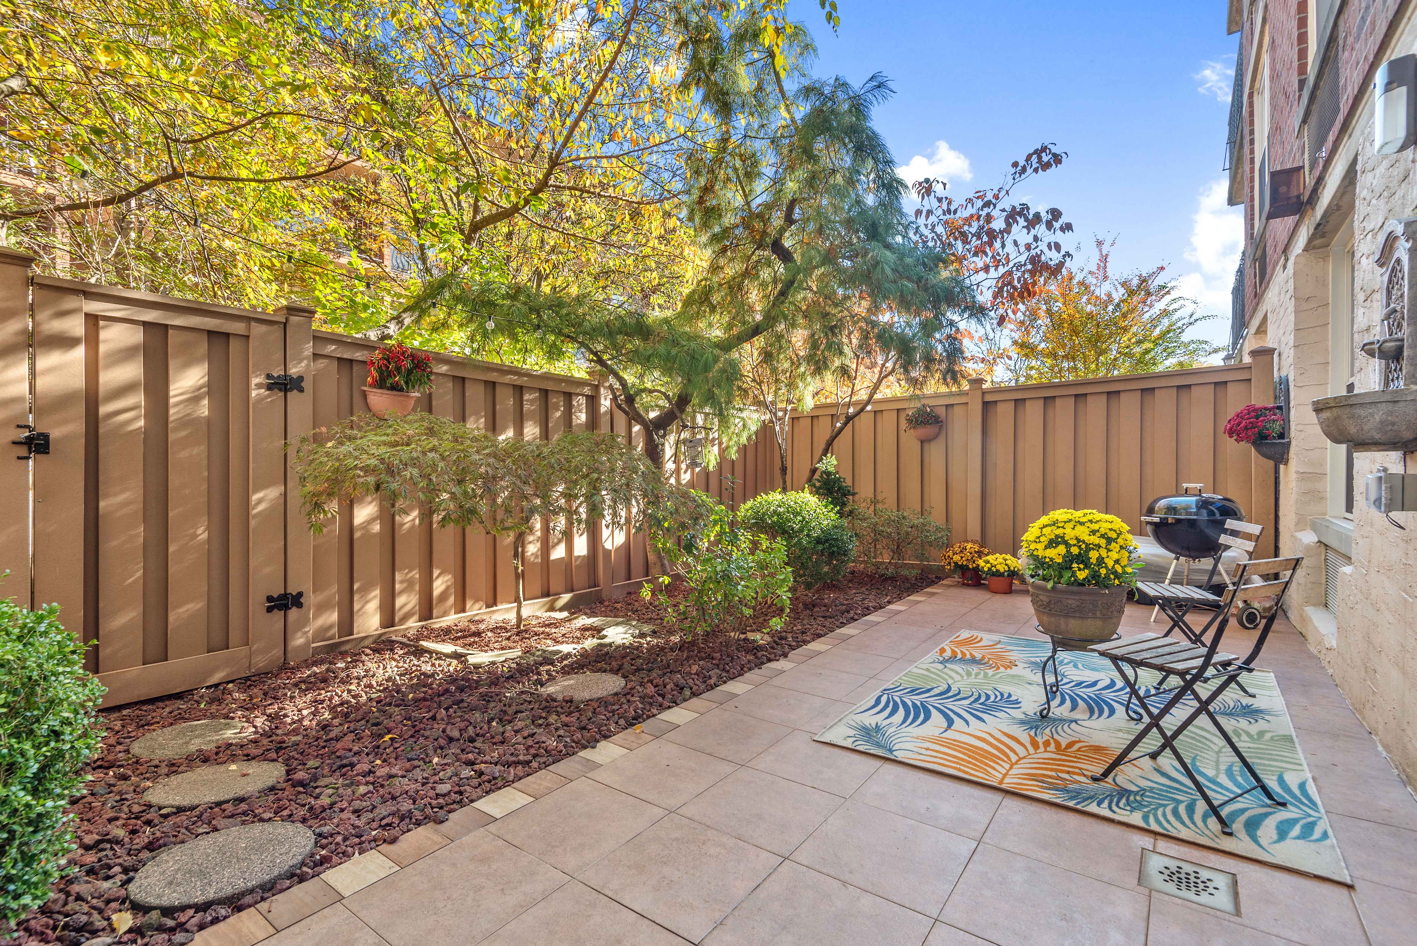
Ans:
POLYGON ((214 831, 145 864, 128 885, 128 898, 145 911, 232 904, 295 874, 313 850, 315 833, 290 821, 214 831))

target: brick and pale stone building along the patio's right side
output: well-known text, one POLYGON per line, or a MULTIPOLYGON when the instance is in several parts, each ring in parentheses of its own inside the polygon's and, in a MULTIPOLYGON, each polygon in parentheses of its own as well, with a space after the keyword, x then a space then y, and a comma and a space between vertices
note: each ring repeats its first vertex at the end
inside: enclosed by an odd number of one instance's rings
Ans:
POLYGON ((1373 82, 1384 62, 1417 52, 1417 3, 1230 0, 1227 27, 1240 34, 1230 203, 1246 211, 1230 358, 1272 347, 1277 402, 1291 404, 1278 544, 1305 562, 1287 608, 1417 785, 1417 514, 1384 517, 1363 497, 1369 473, 1408 469, 1414 455, 1332 443, 1311 406, 1417 384, 1410 370, 1404 380, 1401 358, 1362 351, 1404 333, 1414 347, 1404 320, 1417 261, 1417 149, 1377 153, 1373 82))

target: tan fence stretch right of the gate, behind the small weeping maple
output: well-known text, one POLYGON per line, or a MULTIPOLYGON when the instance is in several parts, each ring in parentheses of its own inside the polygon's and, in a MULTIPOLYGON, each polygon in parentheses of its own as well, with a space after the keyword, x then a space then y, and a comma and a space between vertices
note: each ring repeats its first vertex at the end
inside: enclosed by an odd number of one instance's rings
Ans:
MULTIPOLYGON (((312 425, 367 411, 366 360, 377 344, 315 331, 310 346, 312 425)), ((504 436, 550 439, 591 429, 598 397, 592 381, 435 353, 434 389, 417 409, 504 436)), ((305 528, 303 520, 299 527, 305 528)), ((296 535, 295 524, 290 528, 296 535)), ((597 542, 587 534, 553 542, 546 525, 529 535, 526 598, 598 593, 597 542)), ((373 500, 347 504, 309 545, 313 653, 513 600, 510 540, 492 540, 476 528, 434 528, 417 514, 395 520, 373 500)))

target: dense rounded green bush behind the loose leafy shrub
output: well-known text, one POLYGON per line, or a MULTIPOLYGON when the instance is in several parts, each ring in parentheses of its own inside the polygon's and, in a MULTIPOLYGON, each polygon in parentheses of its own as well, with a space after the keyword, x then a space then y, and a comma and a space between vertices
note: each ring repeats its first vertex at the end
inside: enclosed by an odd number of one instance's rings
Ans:
POLYGON ((801 490, 755 496, 738 508, 738 521, 788 551, 792 578, 803 588, 835 582, 846 574, 856 537, 830 504, 801 490))

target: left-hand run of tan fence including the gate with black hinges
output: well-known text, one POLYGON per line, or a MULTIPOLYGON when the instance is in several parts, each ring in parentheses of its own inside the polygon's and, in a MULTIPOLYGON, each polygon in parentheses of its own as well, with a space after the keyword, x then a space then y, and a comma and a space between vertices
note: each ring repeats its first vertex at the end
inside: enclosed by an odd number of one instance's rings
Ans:
MULTIPOLYGON (((366 409, 370 343, 312 331, 299 306, 30 279, 28 265, 0 251, 0 421, 33 416, 50 450, 0 466, 0 593, 61 606, 95 643, 105 705, 512 602, 510 545, 478 530, 395 518, 376 500, 346 504, 322 535, 306 527, 285 443, 366 409), (268 375, 283 374, 303 391, 275 389, 268 375), (285 592, 303 606, 271 609, 285 592)), ((631 435, 594 381, 444 354, 434 372, 422 409, 442 416, 540 439, 631 435)), ((601 532, 533 535, 527 598, 565 606, 649 574, 643 537, 601 532)))

